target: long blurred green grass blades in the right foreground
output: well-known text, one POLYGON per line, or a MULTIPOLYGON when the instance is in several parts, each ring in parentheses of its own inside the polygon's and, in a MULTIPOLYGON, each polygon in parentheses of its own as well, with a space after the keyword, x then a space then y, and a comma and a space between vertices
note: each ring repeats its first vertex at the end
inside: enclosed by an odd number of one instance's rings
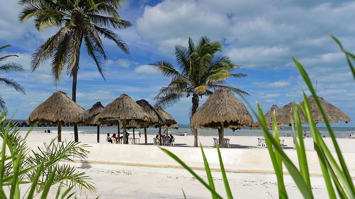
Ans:
MULTIPOLYGON (((340 41, 335 38, 333 35, 328 34, 331 36, 331 38, 334 39, 335 42, 339 45, 339 48, 342 52, 345 53, 346 60, 348 61, 349 67, 351 72, 353 73, 354 79, 355 79, 355 69, 353 65, 353 61, 355 61, 355 56, 354 54, 346 51, 340 41)), ((320 163, 320 168, 323 173, 324 181, 327 187, 328 195, 329 198, 353 198, 355 199, 355 188, 353 181, 351 180, 348 168, 345 164, 344 158, 342 153, 340 152, 340 148, 338 146, 337 141, 335 140, 334 132, 331 128, 331 125, 328 122, 328 119, 324 113, 324 110, 318 100, 318 97, 316 95, 316 92, 312 86, 311 80, 308 77, 306 70, 304 67, 297 61, 295 57, 292 56, 292 59, 299 70, 300 74, 302 75, 302 78, 304 79, 308 89, 311 91, 316 104, 324 118, 324 123, 327 126, 327 130, 329 132, 329 135, 332 139, 335 152, 336 154, 333 156, 331 152, 329 151, 329 148, 326 146, 324 143, 321 135, 318 133, 317 127, 312 119, 312 112, 310 108, 309 101, 307 99, 307 96, 305 92, 303 92, 303 98, 304 98, 304 104, 300 103, 300 107, 302 109, 302 112, 306 116, 308 120, 308 124, 310 126, 310 131, 312 133, 313 137, 313 142, 314 142, 314 147, 319 159, 320 163), (337 163, 339 162, 339 163, 337 163)), ((241 96, 242 97, 242 96, 241 96)), ((292 129, 293 129, 293 136, 297 137, 298 139, 295 138, 295 146, 296 146, 296 152, 297 152, 297 158, 298 158, 298 168, 297 166, 290 160, 290 158, 285 154, 285 152, 282 150, 280 147, 280 142, 279 142, 279 134, 278 134, 278 129, 277 129, 277 122, 275 119, 275 115, 273 116, 273 129, 272 129, 272 135, 269 132, 267 125, 266 125, 266 120, 264 118, 264 114, 260 108, 260 105, 257 103, 257 112, 256 113, 254 110, 255 115, 258 115, 258 120, 260 121, 263 135, 265 137, 265 141, 268 147, 268 152, 271 157, 271 161, 275 170, 275 174, 277 176, 277 182, 278 182, 278 190, 279 190, 279 198, 288 198, 288 194, 285 190, 284 186, 284 179, 283 179, 283 164, 286 166, 286 169, 289 171, 291 177, 296 183, 296 186, 299 188, 302 196, 304 198, 314 198, 314 194, 312 192, 312 186, 311 186, 311 181, 310 181, 310 174, 308 170, 308 164, 307 164, 307 158, 306 158, 306 152, 305 152, 305 145, 303 141, 303 135, 302 135, 302 126, 300 122, 300 115, 298 114, 297 111, 297 106, 296 103, 293 103, 293 110, 294 110, 294 118, 295 120, 293 121, 292 116, 291 118, 291 124, 292 124, 292 129)), ((201 144, 200 144, 201 145, 201 144)), ((187 169, 193 176, 196 177, 198 181, 200 181, 212 194, 212 198, 222 198, 216 191, 211 175, 211 170, 209 169, 207 159, 203 153, 203 148, 201 147, 202 155, 203 155, 203 160, 204 160, 204 165, 208 177, 208 183, 203 181, 201 177, 199 177, 192 169, 190 169, 185 163, 183 163, 176 155, 173 153, 169 152, 166 149, 161 148, 165 153, 170 155, 173 159, 178 161, 185 169, 187 169)), ((220 160, 220 166, 221 166, 221 172, 223 175, 223 180, 224 180, 224 185, 225 185, 225 191, 227 193, 228 198, 233 198, 228 181, 225 175, 225 170, 223 167, 223 162, 222 162, 222 157, 219 152, 219 148, 217 146, 217 151, 218 151, 218 156, 220 160)), ((184 194, 185 195, 185 194, 184 194)))

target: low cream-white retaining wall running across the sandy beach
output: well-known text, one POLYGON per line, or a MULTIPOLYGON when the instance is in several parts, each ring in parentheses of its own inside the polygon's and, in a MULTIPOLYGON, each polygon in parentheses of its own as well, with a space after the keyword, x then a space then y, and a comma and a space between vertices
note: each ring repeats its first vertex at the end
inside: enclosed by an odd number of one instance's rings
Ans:
MULTIPOLYGON (((41 142, 27 142, 32 149, 41 146, 41 142)), ((131 162, 132 165, 142 165, 149 163, 146 166, 166 167, 176 163, 169 155, 163 152, 158 146, 152 145, 131 145, 131 144, 89 144, 86 150, 91 153, 88 156, 87 162, 105 163, 105 164, 126 164, 131 162), (133 164, 134 163, 134 164, 133 164)), ((162 147, 168 149, 182 161, 187 163, 196 163, 197 167, 203 167, 203 157, 200 147, 162 147)), ((212 166, 219 166, 218 152, 216 148, 204 148, 208 163, 212 166)), ((220 149, 223 163, 226 166, 246 166, 263 168, 265 166, 272 167, 272 161, 267 149, 220 149)), ((285 150, 286 155, 298 166, 297 153, 295 150, 285 150)), ((332 153, 335 159, 336 153, 332 153)), ((306 151, 308 166, 310 169, 320 169, 318 156, 315 151, 306 151)), ((343 153, 344 160, 349 170, 355 170, 355 153, 343 153)), ((81 160, 85 161, 85 160, 81 160)), ((188 164, 189 165, 189 164, 188 164)))

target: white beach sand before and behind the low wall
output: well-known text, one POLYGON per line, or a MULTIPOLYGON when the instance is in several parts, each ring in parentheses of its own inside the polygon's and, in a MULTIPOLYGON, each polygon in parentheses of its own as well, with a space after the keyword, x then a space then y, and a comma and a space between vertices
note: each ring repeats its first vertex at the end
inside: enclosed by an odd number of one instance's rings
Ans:
MULTIPOLYGON (((121 134, 122 135, 122 134, 121 134)), ((132 135, 130 135, 132 137, 132 135)), ((136 135, 136 137, 139 137, 136 135)), ((148 144, 153 143, 154 135, 148 135, 148 144)), ((175 136, 176 147, 192 147, 194 142, 193 136, 175 136)), ((204 147, 213 146, 213 137, 217 136, 198 136, 199 142, 204 147)), ((257 146, 257 137, 255 136, 225 136, 230 138, 230 144, 233 148, 243 149, 257 149, 266 150, 260 146, 257 146)), ((27 141, 28 142, 50 142, 56 138, 56 133, 31 133, 27 141)), ((260 137, 262 138, 262 137, 260 137)), ((73 134, 62 134, 62 140, 72 140, 73 134)), ((293 150, 293 138, 292 137, 280 137, 285 140, 286 149, 293 150)), ((331 146, 330 138, 323 138, 328 146, 331 146)), ((79 141, 82 143, 96 143, 96 134, 79 134, 79 141)), ((306 144, 306 150, 313 150, 312 138, 304 139, 306 144)), ((337 138, 338 144, 343 152, 353 153, 352 147, 354 146, 355 139, 337 138)), ((106 135, 100 135, 100 143, 106 144, 106 135)), ((144 144, 144 134, 140 138, 140 143, 144 144)), ((331 147, 333 148, 333 147, 331 147)), ((331 149, 333 150, 333 149, 331 149)), ((83 164, 83 163, 78 163, 83 164)), ((84 165, 84 164, 83 164, 84 165)), ((100 164, 97 164, 100 165, 100 164)), ((112 166, 112 165, 110 165, 112 166)), ((203 185, 193 178, 190 174, 186 173, 186 170, 173 168, 166 171, 165 168, 158 169, 158 172, 154 173, 149 167, 137 167, 137 166, 124 166, 119 165, 115 169, 107 169, 105 167, 95 166, 78 167, 78 171, 86 172, 93 182, 95 182, 98 188, 97 195, 100 198, 183 198, 181 188, 184 189, 187 198, 211 198, 209 191, 203 187, 203 185), (118 169, 120 167, 121 169, 118 169), (147 172, 143 170, 147 169, 147 172), (149 171, 149 172, 148 172, 149 171), (161 172, 160 172, 161 171, 161 172)), ((113 168, 113 167, 112 167, 113 168)), ((200 170, 199 175, 205 175, 204 171, 200 170)), ((218 192, 226 197, 224 192, 224 184, 220 172, 215 172, 215 186, 218 192)), ((274 174, 246 174, 246 173, 230 173, 228 175, 234 175, 229 178, 229 185, 235 198, 277 198, 278 189, 275 183, 274 174), (249 175, 245 177, 244 175, 249 175), (271 180, 265 180, 265 176, 269 175, 271 180), (261 177, 262 176, 262 177, 261 177), (264 179, 264 180, 250 180, 250 179, 264 179)), ((289 177, 290 178, 290 177, 289 177)), ((316 177, 313 177, 316 178, 316 177)), ((206 176, 203 176, 204 180, 207 180, 206 176)), ((316 198, 328 198, 326 187, 323 185, 323 179, 317 178, 317 182, 313 184, 313 193, 316 198)), ((301 198, 301 194, 297 187, 288 181, 285 183, 286 190, 290 198, 301 198)), ((51 190, 51 193, 55 192, 56 188, 51 190)), ((78 189, 76 189, 78 191, 78 189)), ((78 192, 80 194, 80 192, 78 192)), ((84 194, 84 193, 83 193, 84 194)), ((87 195, 86 193, 84 195, 87 195)), ((85 198, 85 197, 82 197, 85 198)), ((95 198, 89 194, 89 198, 95 198)))

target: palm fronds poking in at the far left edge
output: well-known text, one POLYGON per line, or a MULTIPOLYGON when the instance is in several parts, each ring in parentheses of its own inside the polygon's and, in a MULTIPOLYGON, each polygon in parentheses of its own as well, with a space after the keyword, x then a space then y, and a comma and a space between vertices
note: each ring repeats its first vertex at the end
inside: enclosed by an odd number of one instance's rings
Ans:
MULTIPOLYGON (((7 47, 11 47, 11 45, 6 45, 6 46, 2 46, 0 47, 0 54, 2 53, 2 51, 4 51, 5 48, 7 47)), ((22 66, 18 63, 13 63, 13 62, 9 62, 6 64, 1 64, 1 62, 5 61, 5 59, 9 58, 9 57, 18 57, 17 55, 6 55, 4 57, 0 57, 0 74, 4 74, 4 73, 11 73, 11 72, 24 72, 24 69, 22 68, 22 66)), ((21 86, 20 84, 18 84, 16 81, 14 81, 13 79, 9 79, 9 78, 0 78, 0 84, 4 84, 6 86, 12 87, 14 88, 17 92, 20 92, 24 95, 26 95, 26 91, 24 90, 23 86, 21 86)), ((0 96, 0 110, 4 110, 6 108, 6 104, 4 99, 0 96)))

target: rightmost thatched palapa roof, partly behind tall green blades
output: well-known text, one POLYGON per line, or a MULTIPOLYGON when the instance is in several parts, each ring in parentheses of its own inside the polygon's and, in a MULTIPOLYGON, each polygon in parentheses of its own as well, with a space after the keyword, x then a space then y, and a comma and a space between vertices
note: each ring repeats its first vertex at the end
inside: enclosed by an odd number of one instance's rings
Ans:
MULTIPOLYGON (((337 108, 333 104, 325 101, 322 97, 318 97, 318 100, 320 101, 320 103, 322 105, 322 108, 324 110, 324 113, 327 116, 329 123, 338 124, 339 121, 343 121, 345 123, 351 122, 351 119, 349 118, 349 116, 346 115, 344 112, 342 112, 339 108, 337 108)), ((324 123, 322 113, 320 112, 313 95, 308 97, 308 101, 310 103, 313 121, 324 123)), ((305 101, 302 102, 302 104, 304 104, 304 103, 305 103, 305 101)), ((304 122, 307 121, 306 117, 303 114, 301 115, 300 118, 301 118, 301 121, 304 121, 304 122)), ((306 123, 304 123, 304 124, 306 124, 306 123)))

